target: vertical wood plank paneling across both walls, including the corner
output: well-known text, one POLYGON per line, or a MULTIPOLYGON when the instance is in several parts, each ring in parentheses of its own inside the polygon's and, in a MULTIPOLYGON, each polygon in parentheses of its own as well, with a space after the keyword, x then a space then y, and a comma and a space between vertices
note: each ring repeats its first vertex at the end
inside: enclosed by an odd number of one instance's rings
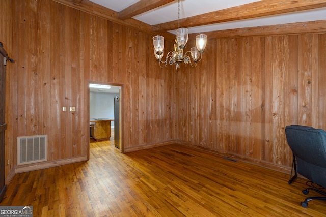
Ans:
POLYGON ((209 39, 197 68, 176 71, 158 67, 151 34, 51 0, 0 6, 9 29, 0 41, 15 59, 7 68, 6 174, 16 166, 17 136, 47 134, 50 161, 87 156, 88 80, 124 86, 126 151, 180 141, 289 167, 285 126, 326 129, 326 34, 209 39))

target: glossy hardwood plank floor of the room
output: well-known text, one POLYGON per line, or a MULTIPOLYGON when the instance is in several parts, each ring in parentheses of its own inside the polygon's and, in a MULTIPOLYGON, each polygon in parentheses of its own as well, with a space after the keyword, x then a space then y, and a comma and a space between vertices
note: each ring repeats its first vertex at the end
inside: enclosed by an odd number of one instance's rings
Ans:
MULTIPOLYGON (((15 175, 1 206, 34 216, 324 216, 300 205, 306 180, 184 145, 122 154, 92 142, 90 160, 15 175)), ((317 195, 310 192, 309 195, 317 195)))

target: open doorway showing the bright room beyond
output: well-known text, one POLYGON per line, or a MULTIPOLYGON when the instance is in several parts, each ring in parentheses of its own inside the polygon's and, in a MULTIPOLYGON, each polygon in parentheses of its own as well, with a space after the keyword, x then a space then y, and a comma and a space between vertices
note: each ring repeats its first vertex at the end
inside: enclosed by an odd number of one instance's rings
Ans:
MULTIPOLYGON (((89 143, 110 140, 109 142, 123 151, 121 142, 121 110, 115 109, 116 98, 122 98, 122 84, 88 81, 89 143)), ((119 100, 120 101, 120 100, 119 100)), ((119 102, 120 103, 120 102, 119 102)), ((89 157, 89 145, 88 145, 89 157)))

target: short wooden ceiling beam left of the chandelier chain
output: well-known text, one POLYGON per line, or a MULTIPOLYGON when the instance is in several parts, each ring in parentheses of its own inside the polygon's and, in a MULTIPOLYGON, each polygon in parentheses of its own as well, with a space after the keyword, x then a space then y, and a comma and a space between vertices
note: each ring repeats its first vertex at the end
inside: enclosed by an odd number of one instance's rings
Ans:
POLYGON ((174 0, 141 0, 120 11, 118 17, 121 20, 125 20, 173 1, 174 0))

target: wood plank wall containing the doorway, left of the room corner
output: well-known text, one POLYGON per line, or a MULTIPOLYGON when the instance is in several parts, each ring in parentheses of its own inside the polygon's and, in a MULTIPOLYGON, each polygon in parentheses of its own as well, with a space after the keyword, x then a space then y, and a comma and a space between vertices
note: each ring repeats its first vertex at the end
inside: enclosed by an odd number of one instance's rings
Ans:
POLYGON ((51 0, 5 1, 10 13, 1 16, 12 21, 6 36, 15 59, 7 85, 7 174, 16 166, 17 136, 47 134, 49 161, 87 156, 88 80, 123 85, 125 151, 176 137, 175 72, 157 65, 153 35, 51 0))

